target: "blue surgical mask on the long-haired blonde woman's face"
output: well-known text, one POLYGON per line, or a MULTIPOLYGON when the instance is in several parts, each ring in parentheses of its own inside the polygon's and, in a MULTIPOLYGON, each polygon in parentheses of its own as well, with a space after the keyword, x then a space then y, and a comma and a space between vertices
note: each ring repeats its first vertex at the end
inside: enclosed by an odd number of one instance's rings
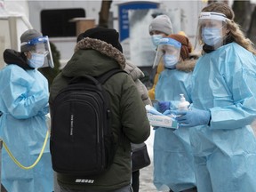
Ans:
POLYGON ((221 28, 202 28, 202 37, 205 44, 214 46, 222 40, 221 28))

